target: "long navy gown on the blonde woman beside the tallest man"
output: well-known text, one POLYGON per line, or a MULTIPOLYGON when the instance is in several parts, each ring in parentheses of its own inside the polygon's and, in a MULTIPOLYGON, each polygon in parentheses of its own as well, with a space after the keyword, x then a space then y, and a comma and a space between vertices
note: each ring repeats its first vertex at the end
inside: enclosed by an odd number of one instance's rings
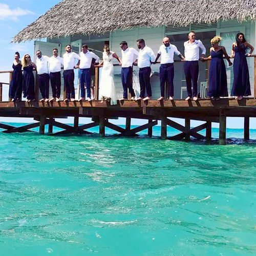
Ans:
POLYGON ((211 61, 209 67, 209 97, 228 96, 227 92, 227 73, 223 60, 223 50, 218 52, 211 51, 211 61))

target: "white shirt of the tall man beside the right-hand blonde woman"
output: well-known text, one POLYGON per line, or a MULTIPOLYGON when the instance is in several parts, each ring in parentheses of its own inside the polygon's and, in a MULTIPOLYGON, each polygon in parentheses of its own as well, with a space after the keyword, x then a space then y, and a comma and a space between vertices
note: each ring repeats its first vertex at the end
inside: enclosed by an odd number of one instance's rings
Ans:
POLYGON ((199 60, 200 49, 202 51, 202 54, 206 53, 206 49, 205 49, 203 43, 200 40, 195 40, 195 42, 193 42, 193 44, 188 44, 188 42, 189 41, 184 42, 185 60, 186 61, 199 60))

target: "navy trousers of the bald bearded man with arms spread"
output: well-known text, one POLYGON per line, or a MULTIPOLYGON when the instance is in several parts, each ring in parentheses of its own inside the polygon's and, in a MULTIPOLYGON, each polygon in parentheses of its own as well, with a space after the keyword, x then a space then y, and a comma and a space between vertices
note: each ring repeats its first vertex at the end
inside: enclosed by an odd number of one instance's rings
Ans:
POLYGON ((164 97, 164 87, 166 84, 167 96, 174 96, 174 64, 167 63, 160 66, 160 89, 161 97, 164 97))

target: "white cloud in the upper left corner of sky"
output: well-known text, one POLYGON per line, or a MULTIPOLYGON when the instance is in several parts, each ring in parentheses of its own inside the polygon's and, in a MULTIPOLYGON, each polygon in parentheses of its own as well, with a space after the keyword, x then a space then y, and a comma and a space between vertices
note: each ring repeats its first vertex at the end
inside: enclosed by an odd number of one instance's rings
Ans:
POLYGON ((10 9, 8 5, 0 3, 0 20, 11 19, 17 21, 19 16, 24 16, 28 14, 34 13, 20 7, 10 9))

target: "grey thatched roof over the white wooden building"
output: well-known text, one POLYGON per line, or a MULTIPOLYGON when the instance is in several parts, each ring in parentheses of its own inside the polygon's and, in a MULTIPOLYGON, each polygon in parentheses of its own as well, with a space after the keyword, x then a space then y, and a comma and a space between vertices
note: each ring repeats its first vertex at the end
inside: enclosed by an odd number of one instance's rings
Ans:
POLYGON ((63 0, 20 31, 13 42, 170 24, 256 19, 254 0, 63 0))

